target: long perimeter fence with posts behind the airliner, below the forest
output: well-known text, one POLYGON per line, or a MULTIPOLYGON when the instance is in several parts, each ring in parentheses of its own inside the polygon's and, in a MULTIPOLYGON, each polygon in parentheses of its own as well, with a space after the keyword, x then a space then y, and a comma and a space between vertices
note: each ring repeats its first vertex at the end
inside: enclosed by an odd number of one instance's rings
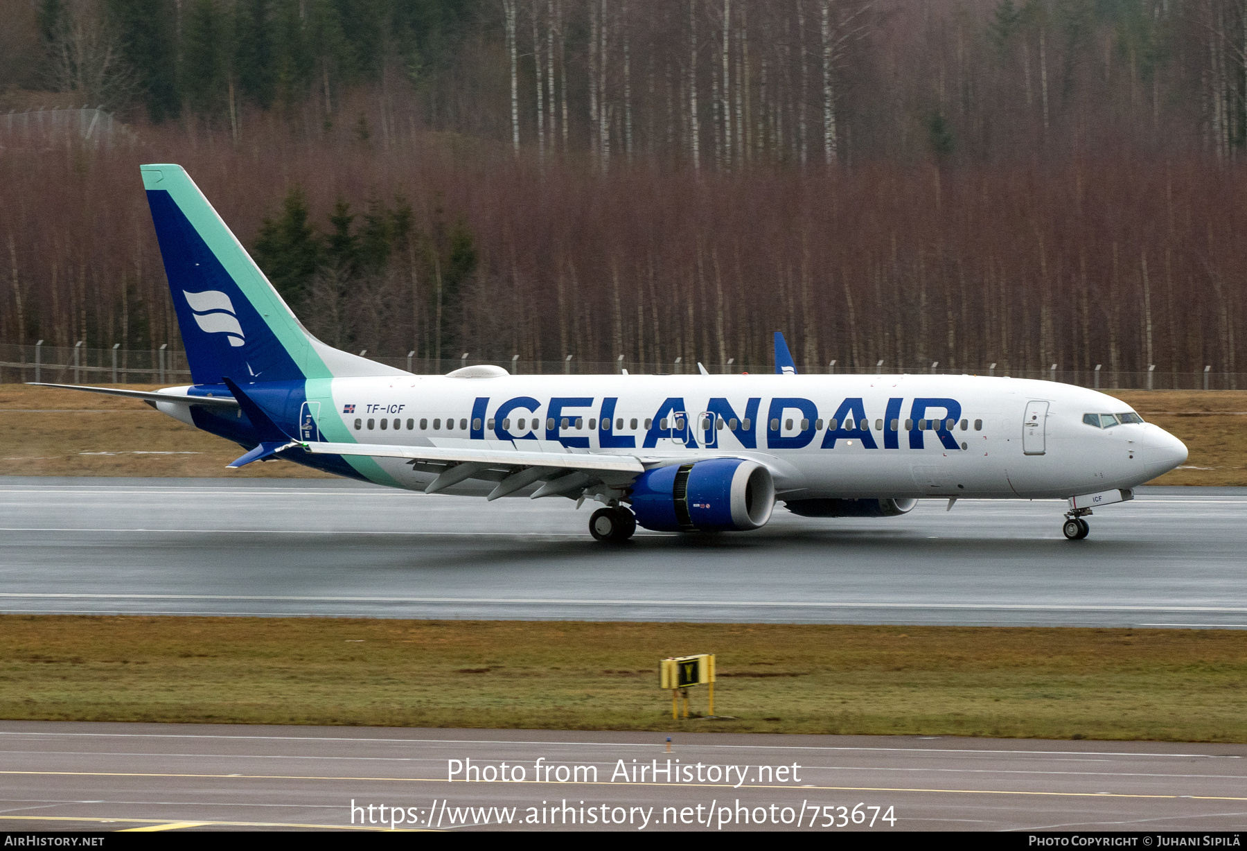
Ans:
MULTIPOLYGON (((616 358, 615 361, 579 361, 567 356, 561 361, 521 361, 519 356, 510 359, 479 359, 469 354, 459 358, 418 358, 412 352, 407 357, 369 356, 363 357, 377 363, 398 367, 419 376, 436 376, 461 367, 494 364, 505 368, 511 374, 520 376, 601 376, 620 374, 696 374, 705 367, 711 374, 771 373, 771 364, 737 363, 729 358, 727 363, 686 362, 677 358, 670 363, 642 363, 616 358)), ((893 366, 878 362, 873 367, 845 368, 835 361, 812 366, 798 364, 798 372, 835 373, 835 374, 974 374, 1009 376, 1013 378, 1036 378, 1066 384, 1099 389, 1156 389, 1156 391, 1223 391, 1247 389, 1247 373, 1213 372, 1212 366, 1198 371, 1162 371, 1152 368, 1146 372, 1111 371, 1105 367, 1095 369, 1061 369, 1052 364, 1047 369, 1008 369, 999 363, 979 367, 944 368, 940 363, 925 367, 893 366)), ((0 343, 0 383, 47 382, 52 384, 188 384, 191 371, 186 363, 186 352, 160 346, 152 349, 123 349, 117 343, 112 348, 87 348, 84 343, 71 347, 16 346, 0 343)))

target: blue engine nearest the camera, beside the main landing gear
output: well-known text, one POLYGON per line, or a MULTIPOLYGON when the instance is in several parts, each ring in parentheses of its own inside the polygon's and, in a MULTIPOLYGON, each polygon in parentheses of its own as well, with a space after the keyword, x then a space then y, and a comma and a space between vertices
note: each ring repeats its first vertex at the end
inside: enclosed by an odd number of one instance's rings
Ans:
POLYGON ((636 522, 655 532, 744 532, 774 508, 771 470, 743 458, 708 458, 647 470, 632 485, 636 522))

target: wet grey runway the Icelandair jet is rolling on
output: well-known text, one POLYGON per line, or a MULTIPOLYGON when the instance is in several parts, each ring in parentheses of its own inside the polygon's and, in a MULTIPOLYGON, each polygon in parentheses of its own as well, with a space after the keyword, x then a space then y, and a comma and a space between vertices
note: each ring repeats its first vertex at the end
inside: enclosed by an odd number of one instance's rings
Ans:
POLYGON ((1247 489, 594 542, 570 500, 347 480, 0 478, 0 610, 1247 628, 1247 489))

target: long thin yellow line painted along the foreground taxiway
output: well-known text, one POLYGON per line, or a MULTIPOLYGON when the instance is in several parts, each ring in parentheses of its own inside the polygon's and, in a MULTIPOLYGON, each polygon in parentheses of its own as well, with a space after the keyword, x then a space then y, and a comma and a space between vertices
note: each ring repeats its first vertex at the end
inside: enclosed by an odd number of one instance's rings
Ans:
MULTIPOLYGON (((441 780, 440 777, 322 777, 315 775, 268 775, 268 774, 155 774, 141 771, 0 771, 0 775, 26 775, 26 776, 52 776, 52 777, 187 777, 193 780, 352 780, 355 782, 426 782, 426 784, 468 784, 466 780, 441 780)), ((1230 797, 1222 795, 1137 795, 1129 792, 1036 792, 1003 789, 898 789, 893 786, 776 786, 768 784, 655 784, 655 782, 624 782, 612 784, 599 780, 596 782, 559 782, 549 780, 521 780, 499 781, 510 786, 541 785, 541 786, 682 786, 685 789, 769 789, 799 792, 802 790, 818 790, 831 792, 930 792, 939 795, 1040 795, 1047 797, 1140 797, 1140 799, 1166 799, 1166 800, 1191 800, 1191 801, 1247 801, 1247 797, 1230 797)), ((0 816, 36 819, 37 816, 0 816)), ((224 822, 222 822, 224 824, 224 822)))

